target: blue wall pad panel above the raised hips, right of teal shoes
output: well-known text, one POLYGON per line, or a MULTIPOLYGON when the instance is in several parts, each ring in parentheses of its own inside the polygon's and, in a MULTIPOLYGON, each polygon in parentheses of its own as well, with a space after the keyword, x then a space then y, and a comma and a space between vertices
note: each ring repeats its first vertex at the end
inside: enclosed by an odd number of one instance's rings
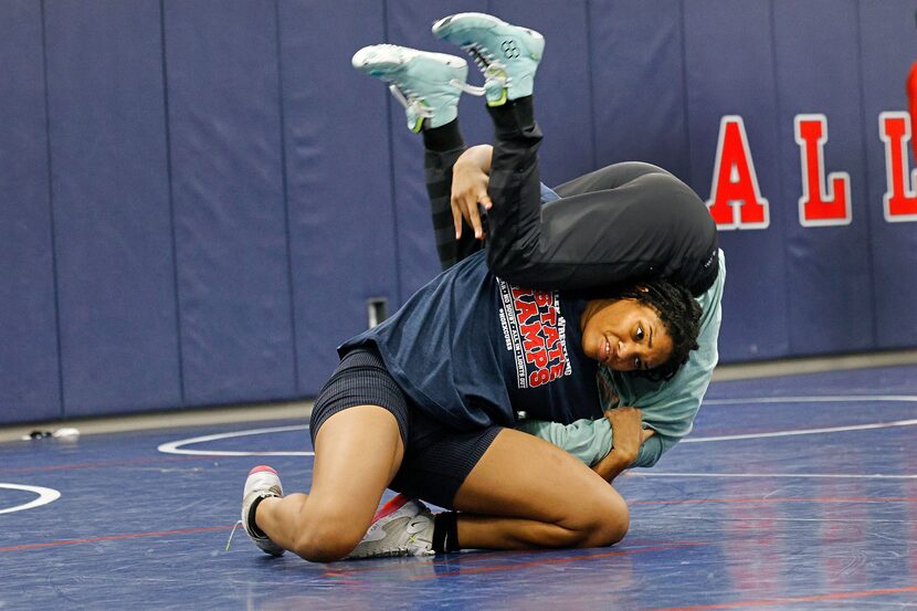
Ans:
POLYGON ((681 2, 595 0, 590 17, 598 165, 647 161, 687 180, 681 2))

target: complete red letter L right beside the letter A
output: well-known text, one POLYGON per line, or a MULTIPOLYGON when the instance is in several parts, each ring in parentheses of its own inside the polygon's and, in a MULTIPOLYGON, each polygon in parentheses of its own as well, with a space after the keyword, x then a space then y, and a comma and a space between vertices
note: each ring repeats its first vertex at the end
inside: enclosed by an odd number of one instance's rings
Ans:
POLYGON ((832 172, 824 182, 824 144, 828 119, 824 115, 797 115, 795 141, 802 162, 802 197, 799 198, 799 223, 802 227, 849 225, 850 175, 832 172))

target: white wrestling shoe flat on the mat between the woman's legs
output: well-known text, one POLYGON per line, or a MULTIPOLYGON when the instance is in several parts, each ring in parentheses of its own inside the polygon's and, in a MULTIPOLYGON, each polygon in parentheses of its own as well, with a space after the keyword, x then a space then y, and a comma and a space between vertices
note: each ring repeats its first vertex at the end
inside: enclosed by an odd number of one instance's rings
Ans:
POLYGON ((420 501, 399 494, 376 514, 372 526, 345 560, 433 554, 433 514, 420 501))

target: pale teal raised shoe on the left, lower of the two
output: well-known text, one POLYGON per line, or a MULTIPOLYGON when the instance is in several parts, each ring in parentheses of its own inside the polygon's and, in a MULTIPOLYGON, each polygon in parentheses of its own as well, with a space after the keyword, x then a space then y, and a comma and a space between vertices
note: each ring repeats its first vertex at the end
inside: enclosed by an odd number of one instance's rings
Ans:
POLYGON ((467 88, 468 64, 462 57, 429 53, 394 44, 373 44, 357 51, 354 67, 390 83, 404 106, 408 128, 440 127, 458 116, 458 97, 467 88))

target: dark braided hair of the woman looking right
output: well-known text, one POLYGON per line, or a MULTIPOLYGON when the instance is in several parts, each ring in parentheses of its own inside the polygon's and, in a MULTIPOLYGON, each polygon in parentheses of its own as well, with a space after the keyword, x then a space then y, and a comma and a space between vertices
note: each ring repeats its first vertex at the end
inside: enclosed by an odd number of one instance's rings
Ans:
POLYGON ((668 360, 653 369, 634 373, 656 381, 671 380, 687 362, 691 351, 698 348, 700 305, 687 288, 661 278, 621 288, 615 297, 633 299, 653 308, 672 338, 672 356, 668 360))

